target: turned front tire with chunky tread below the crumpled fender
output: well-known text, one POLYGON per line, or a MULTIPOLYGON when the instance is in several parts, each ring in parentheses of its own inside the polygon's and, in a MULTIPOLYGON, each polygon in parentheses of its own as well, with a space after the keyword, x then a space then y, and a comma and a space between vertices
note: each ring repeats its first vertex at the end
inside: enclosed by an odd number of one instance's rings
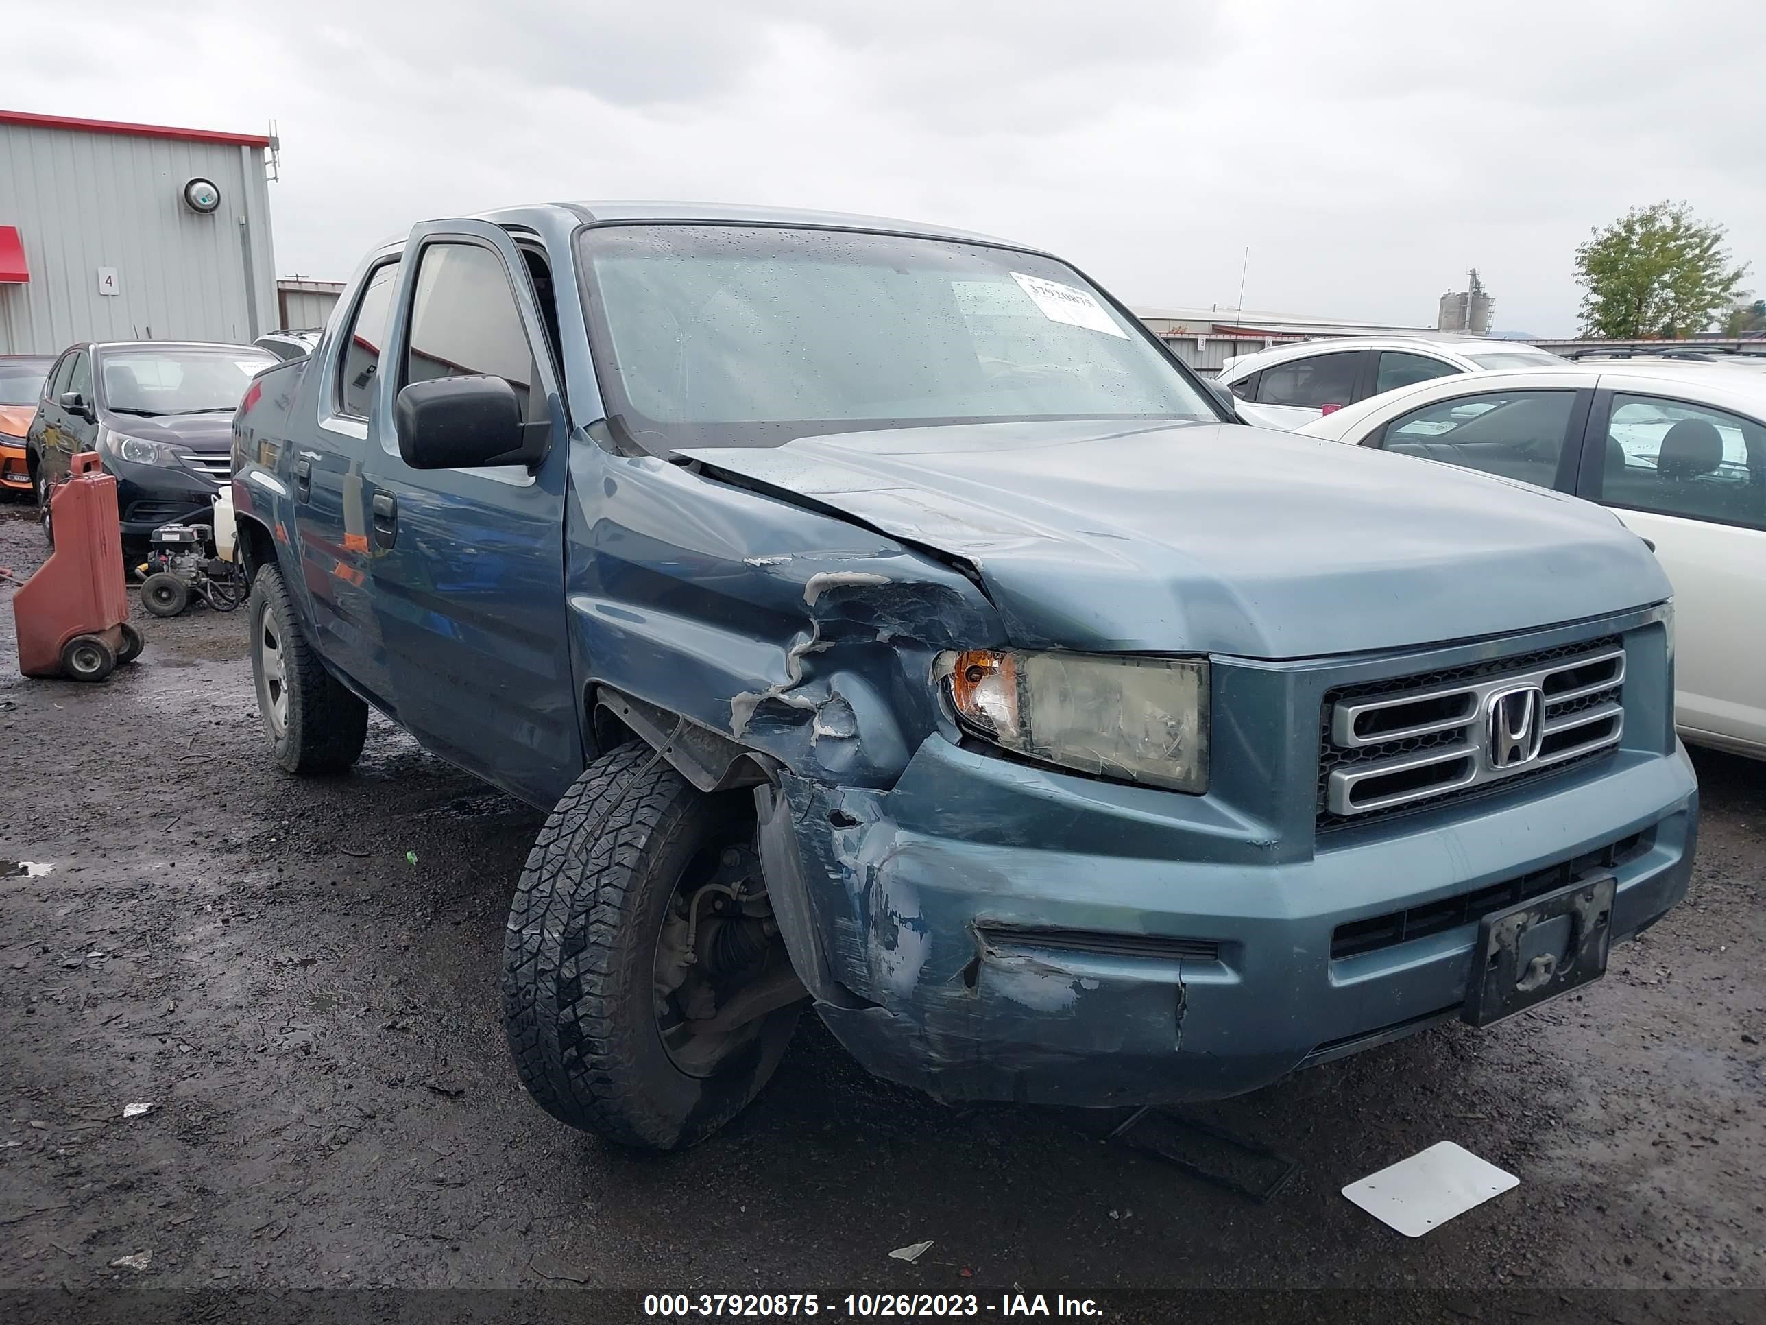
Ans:
MULTIPOLYGON (((521 871, 503 945, 509 1049, 555 1118, 622 1145, 680 1150, 772 1078, 800 1003, 694 1058, 671 1048, 685 1023, 657 986, 664 928, 682 926, 676 899, 752 837, 745 793, 696 791, 645 744, 604 754, 558 802, 521 871)), ((766 970, 777 973, 782 958, 779 945, 766 970)))

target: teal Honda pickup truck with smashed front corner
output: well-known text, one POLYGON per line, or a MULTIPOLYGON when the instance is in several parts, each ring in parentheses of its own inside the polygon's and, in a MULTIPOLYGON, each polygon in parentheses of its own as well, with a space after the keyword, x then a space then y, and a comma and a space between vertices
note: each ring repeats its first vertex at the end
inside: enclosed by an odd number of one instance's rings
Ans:
POLYGON ((1240 424, 1047 253, 565 203, 374 249, 233 424, 275 761, 378 708, 551 811, 551 1115, 742 1109, 807 1007, 940 1099, 1224 1097, 1598 979, 1687 890, 1607 511, 1240 424))

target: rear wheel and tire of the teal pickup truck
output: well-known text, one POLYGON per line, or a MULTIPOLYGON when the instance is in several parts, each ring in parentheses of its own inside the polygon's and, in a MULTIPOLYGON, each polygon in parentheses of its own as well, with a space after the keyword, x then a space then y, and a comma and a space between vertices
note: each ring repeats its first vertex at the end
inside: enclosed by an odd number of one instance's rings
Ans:
POLYGON ((297 625, 295 606, 275 565, 251 587, 251 675, 258 712, 291 774, 344 772, 367 740, 367 705, 332 677, 297 625))

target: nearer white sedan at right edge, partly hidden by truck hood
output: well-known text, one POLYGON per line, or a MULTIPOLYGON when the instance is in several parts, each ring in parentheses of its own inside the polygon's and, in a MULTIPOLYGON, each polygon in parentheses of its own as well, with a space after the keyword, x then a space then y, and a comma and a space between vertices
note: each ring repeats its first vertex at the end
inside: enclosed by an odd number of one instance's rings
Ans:
POLYGON ((1565 362, 1423 382, 1298 431, 1612 507, 1674 581, 1681 737, 1766 758, 1766 375, 1565 362))

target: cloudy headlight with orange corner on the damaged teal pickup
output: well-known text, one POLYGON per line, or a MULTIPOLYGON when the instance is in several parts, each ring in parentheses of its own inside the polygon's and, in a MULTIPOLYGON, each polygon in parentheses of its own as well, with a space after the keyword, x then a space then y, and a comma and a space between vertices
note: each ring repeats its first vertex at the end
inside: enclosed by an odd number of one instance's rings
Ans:
POLYGON ((934 678, 970 733, 1061 768, 1208 790, 1206 659, 940 654, 934 678))

